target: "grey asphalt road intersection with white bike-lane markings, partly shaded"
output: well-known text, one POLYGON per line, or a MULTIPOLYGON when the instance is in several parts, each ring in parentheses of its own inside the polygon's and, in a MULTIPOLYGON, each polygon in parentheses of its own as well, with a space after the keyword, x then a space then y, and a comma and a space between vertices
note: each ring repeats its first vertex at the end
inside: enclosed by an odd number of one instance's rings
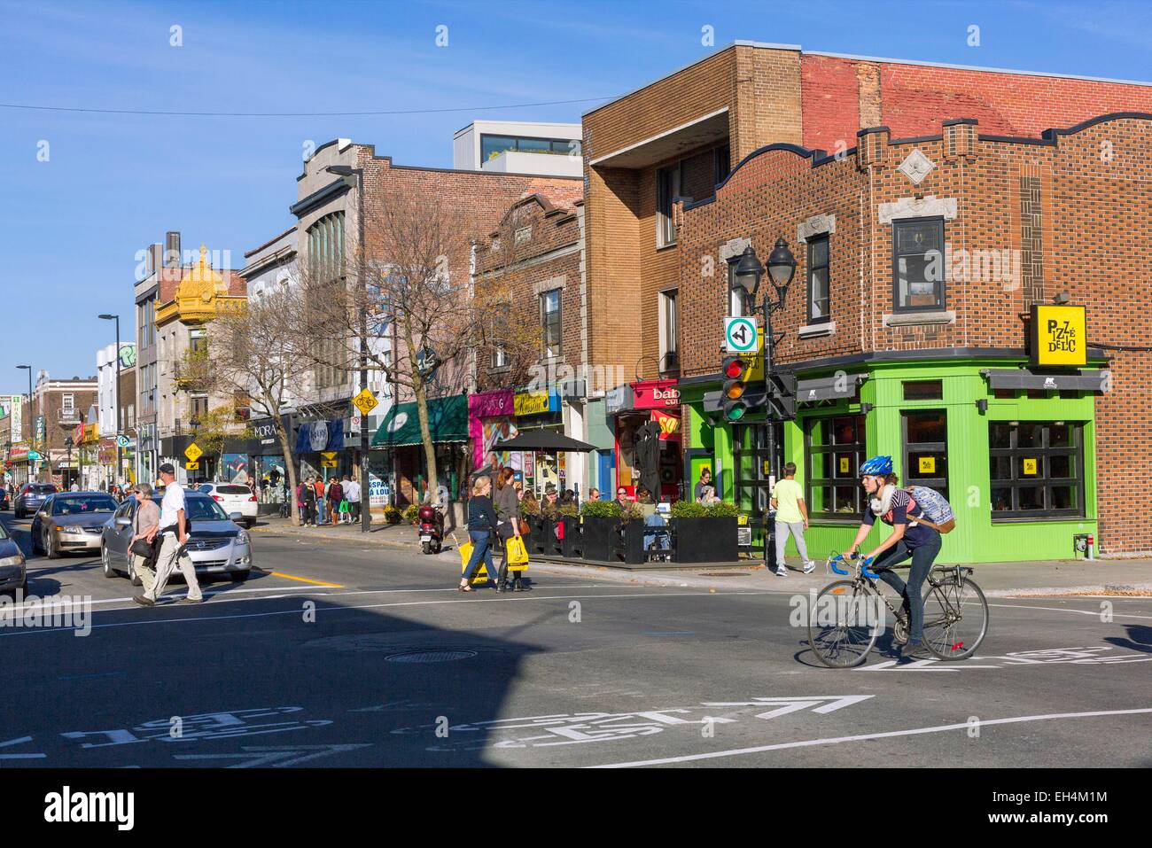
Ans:
POLYGON ((1150 599, 1111 622, 993 599, 968 661, 896 665, 881 637, 834 671, 783 591, 464 596, 452 553, 253 545, 266 574, 151 610, 97 558, 30 559, 30 592, 90 596, 91 630, 0 628, 0 767, 1152 765, 1150 599))

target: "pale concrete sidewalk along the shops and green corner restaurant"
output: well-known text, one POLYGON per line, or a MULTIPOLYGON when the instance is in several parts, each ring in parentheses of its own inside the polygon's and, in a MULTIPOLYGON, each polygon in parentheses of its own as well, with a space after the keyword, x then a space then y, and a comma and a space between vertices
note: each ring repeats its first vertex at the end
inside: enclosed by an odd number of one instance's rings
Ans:
MULTIPOLYGON (((346 544, 374 544, 416 553, 420 550, 419 535, 411 524, 373 523, 364 533, 359 524, 327 524, 295 527, 280 517, 262 517, 252 528, 253 533, 278 533, 285 536, 311 537, 346 544)), ((456 538, 467 540, 468 532, 457 529, 456 538)), ((259 539, 259 536, 257 536, 259 539)), ((460 568, 452 535, 446 539, 445 551, 437 558, 453 570, 460 568)), ((703 563, 696 568, 681 566, 676 569, 651 569, 644 571, 611 568, 605 566, 581 566, 568 562, 536 561, 531 573, 564 577, 592 577, 597 581, 631 583, 642 585, 692 586, 706 589, 770 591, 795 595, 819 590, 839 575, 825 573, 824 563, 805 575, 797 561, 789 561, 788 577, 778 577, 758 562, 748 560, 744 565, 703 563)), ((1021 595, 1100 595, 1106 592, 1135 592, 1152 596, 1152 560, 1045 560, 1024 562, 986 562, 973 568, 973 578, 990 598, 1021 595)))

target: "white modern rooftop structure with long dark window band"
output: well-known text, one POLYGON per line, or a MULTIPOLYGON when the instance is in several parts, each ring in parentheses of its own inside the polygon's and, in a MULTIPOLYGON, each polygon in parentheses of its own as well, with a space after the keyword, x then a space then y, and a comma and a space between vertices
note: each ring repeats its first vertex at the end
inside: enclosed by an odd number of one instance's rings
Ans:
POLYGON ((583 176, 578 123, 473 121, 453 136, 452 167, 540 176, 583 176))

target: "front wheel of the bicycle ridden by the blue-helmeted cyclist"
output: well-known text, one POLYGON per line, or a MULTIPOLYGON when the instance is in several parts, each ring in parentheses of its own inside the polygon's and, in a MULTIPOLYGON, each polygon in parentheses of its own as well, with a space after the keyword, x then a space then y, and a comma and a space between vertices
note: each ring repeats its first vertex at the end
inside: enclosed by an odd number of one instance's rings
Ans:
POLYGON ((808 611, 808 642, 829 668, 852 668, 867 659, 880 635, 874 611, 882 605, 865 584, 829 583, 808 611))

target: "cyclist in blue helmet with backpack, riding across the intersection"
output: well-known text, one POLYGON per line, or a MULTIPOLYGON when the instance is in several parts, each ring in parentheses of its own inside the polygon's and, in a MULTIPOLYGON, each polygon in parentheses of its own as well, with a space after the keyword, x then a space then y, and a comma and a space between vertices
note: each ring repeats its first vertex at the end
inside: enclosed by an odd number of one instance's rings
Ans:
POLYGON ((909 618, 909 634, 901 653, 907 656, 924 641, 924 581, 940 553, 940 533, 934 528, 917 522, 922 517, 920 507, 908 492, 896 485, 890 456, 873 456, 861 465, 861 485, 870 500, 864 507, 856 540, 847 553, 855 554, 859 550, 877 516, 892 527, 892 535, 867 555, 867 561, 880 580, 904 598, 903 612, 909 618), (912 567, 908 583, 904 583, 888 569, 909 556, 912 558, 912 567))

